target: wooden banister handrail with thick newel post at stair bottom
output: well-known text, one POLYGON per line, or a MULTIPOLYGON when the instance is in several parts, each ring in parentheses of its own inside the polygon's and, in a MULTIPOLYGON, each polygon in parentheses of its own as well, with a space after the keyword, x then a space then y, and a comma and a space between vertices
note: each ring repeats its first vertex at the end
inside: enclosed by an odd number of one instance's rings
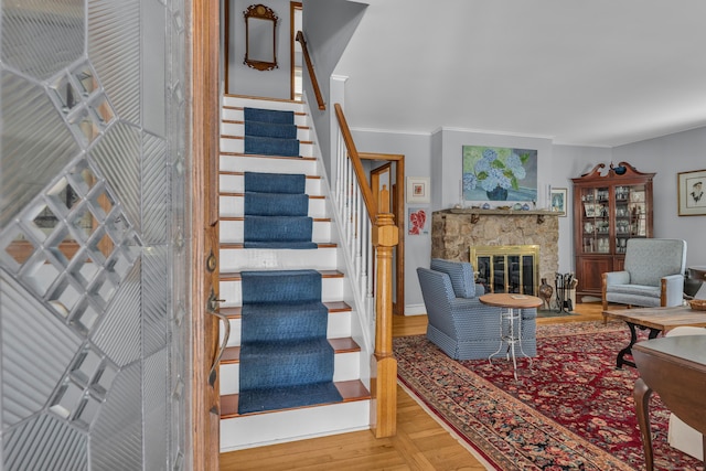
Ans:
MULTIPOLYGON (((371 361, 371 429, 377 438, 397 432, 397 360, 393 354, 393 249, 399 242, 395 215, 378 213, 361 158, 340 104, 334 104, 341 136, 372 223, 375 247, 375 353, 371 361)), ((389 210, 388 210, 389 211, 389 210)))

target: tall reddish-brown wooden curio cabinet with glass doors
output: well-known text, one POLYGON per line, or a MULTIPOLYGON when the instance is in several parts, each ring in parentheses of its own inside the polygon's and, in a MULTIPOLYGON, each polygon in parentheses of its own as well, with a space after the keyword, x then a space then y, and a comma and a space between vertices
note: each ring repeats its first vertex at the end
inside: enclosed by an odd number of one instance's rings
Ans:
POLYGON ((654 175, 620 162, 571 179, 578 302, 601 297, 601 274, 622 270, 629 238, 652 237, 654 175))

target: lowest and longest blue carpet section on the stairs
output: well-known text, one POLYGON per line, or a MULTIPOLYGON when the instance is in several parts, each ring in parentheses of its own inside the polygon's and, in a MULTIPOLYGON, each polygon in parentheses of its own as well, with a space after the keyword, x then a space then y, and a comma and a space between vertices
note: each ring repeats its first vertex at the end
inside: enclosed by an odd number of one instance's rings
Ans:
POLYGON ((315 270, 244 271, 238 414, 338 403, 315 270))

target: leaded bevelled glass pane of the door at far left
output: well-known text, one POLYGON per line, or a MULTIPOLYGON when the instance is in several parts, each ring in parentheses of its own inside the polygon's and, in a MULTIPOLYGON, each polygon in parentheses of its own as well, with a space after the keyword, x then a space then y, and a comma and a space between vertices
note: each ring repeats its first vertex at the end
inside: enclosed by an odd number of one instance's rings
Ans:
POLYGON ((0 3, 0 470, 189 468, 188 2, 0 3))

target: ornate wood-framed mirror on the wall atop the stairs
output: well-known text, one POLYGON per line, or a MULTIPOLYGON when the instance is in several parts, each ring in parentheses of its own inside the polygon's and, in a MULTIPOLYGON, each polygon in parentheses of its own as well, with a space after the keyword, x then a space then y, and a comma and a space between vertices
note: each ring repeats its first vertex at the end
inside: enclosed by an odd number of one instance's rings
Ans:
POLYGON ((277 14, 264 4, 252 4, 245 17, 245 61, 258 71, 277 67, 277 14))

